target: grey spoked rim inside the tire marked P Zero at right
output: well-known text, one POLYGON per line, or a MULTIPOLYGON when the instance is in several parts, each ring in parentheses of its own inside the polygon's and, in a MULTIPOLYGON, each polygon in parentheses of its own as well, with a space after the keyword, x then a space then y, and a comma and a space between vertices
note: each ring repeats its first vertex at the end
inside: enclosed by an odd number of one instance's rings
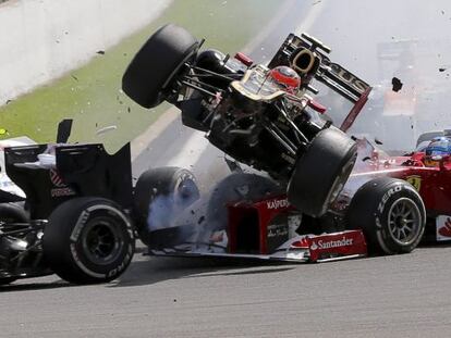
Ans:
POLYGON ((401 246, 409 246, 418 237, 422 213, 413 200, 401 198, 389 210, 388 225, 391 238, 401 246))

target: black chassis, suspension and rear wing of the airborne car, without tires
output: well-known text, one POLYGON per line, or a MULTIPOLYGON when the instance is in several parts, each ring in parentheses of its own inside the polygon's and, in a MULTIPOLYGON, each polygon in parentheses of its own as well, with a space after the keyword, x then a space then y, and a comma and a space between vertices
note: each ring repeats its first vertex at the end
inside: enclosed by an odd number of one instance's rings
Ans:
MULTIPOLYGON (((239 162, 268 172, 288 181, 294 165, 312 139, 330 122, 313 118, 308 92, 317 93, 312 80, 317 79, 361 109, 370 87, 326 55, 330 49, 320 41, 290 34, 268 66, 245 65, 216 50, 198 53, 190 71, 179 82, 188 89, 169 99, 182 110, 184 125, 207 132, 208 140, 239 162), (296 59, 297 57, 297 59, 296 59), (243 80, 249 70, 267 76, 266 71, 279 65, 297 67, 302 86, 297 97, 249 100, 233 90, 233 82, 243 80), (301 98, 301 99, 298 99, 301 98)), ((348 124, 352 120, 350 112, 348 124)), ((352 123, 352 122, 351 122, 352 123)), ((345 129, 345 125, 342 126, 345 129)))

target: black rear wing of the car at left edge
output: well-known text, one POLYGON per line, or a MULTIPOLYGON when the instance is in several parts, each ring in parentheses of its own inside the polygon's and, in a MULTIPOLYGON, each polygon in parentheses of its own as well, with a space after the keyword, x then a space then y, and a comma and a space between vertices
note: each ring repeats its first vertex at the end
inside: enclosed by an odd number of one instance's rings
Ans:
MULTIPOLYGON (((8 176, 25 192, 32 220, 46 220, 64 201, 96 196, 132 206, 130 143, 110 155, 100 143, 56 146, 56 170, 35 167, 48 145, 7 148, 8 176)), ((7 201, 3 201, 7 202, 7 201)))

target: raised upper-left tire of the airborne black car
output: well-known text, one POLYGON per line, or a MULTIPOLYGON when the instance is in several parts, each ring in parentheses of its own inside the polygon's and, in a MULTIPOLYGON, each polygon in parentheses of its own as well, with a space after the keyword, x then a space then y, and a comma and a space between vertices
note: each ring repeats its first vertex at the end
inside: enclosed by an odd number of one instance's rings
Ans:
POLYGON ((162 26, 133 58, 122 77, 123 91, 144 108, 160 104, 185 62, 195 58, 197 47, 198 41, 184 28, 162 26))

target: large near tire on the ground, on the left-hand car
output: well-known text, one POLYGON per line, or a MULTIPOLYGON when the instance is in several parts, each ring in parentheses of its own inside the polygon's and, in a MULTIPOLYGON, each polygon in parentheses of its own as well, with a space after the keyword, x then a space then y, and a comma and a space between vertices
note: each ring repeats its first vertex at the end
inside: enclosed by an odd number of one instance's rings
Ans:
POLYGON ((61 278, 74 284, 107 283, 129 266, 135 239, 131 223, 113 201, 82 197, 50 214, 42 250, 61 278))

